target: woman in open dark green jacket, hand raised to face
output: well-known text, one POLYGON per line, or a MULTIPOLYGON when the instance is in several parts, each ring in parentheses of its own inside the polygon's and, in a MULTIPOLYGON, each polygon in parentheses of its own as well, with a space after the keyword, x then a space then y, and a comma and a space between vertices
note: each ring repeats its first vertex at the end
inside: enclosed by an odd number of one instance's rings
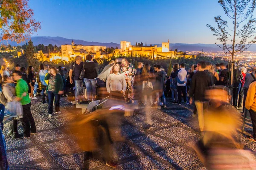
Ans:
POLYGON ((49 117, 52 117, 53 113, 53 99, 55 98, 55 113, 60 112, 60 95, 64 94, 63 90, 63 80, 61 74, 58 74, 58 71, 55 67, 51 67, 48 71, 49 74, 46 74, 45 80, 49 80, 46 93, 48 94, 48 113, 49 117))

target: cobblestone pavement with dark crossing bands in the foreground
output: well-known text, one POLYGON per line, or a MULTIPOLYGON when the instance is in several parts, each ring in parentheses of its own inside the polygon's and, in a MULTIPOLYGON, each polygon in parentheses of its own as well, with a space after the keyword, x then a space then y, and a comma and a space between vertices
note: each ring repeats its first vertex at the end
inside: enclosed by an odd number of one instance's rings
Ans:
MULTIPOLYGON (((152 108, 153 128, 145 130, 145 110, 140 108, 134 116, 123 118, 122 136, 125 141, 114 145, 114 159, 117 170, 204 170, 205 167, 190 145, 200 139, 197 117, 192 118, 191 105, 172 105, 165 109, 152 108)), ((6 137, 7 156, 11 169, 81 169, 83 153, 73 137, 65 133, 65 126, 72 122, 70 114, 81 114, 65 98, 61 98, 61 114, 49 118, 47 104, 32 102, 32 114, 38 133, 29 139, 6 137)), ((12 122, 6 122, 3 133, 6 135, 12 122)), ((250 123, 246 131, 251 133, 250 123)), ((19 122, 18 130, 22 126, 19 122)), ((247 149, 256 151, 256 144, 239 134, 247 149)), ((96 154, 97 155, 97 154, 96 154)), ((100 153, 99 153, 100 155, 100 153)), ((109 170, 100 156, 88 160, 91 170, 109 170)))

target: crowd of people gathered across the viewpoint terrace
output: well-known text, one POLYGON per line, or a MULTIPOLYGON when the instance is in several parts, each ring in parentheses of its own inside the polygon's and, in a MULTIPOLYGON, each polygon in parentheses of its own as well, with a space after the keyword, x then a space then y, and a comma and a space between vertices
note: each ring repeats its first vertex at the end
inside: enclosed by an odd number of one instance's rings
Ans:
POLYGON ((90 54, 84 62, 80 56, 76 56, 69 72, 64 67, 59 66, 57 69, 47 64, 41 64, 39 72, 35 72, 32 66, 26 71, 17 64, 12 72, 3 65, 0 70, 0 102, 4 105, 10 102, 20 103, 23 112, 12 117, 13 123, 8 136, 26 139, 37 133, 30 111, 31 100, 37 99, 37 95, 42 96, 42 103, 48 103, 48 115, 52 117, 61 113, 60 97, 67 96, 72 92, 70 89, 75 89, 73 103, 77 105, 104 99, 105 96, 117 98, 118 104, 135 103, 145 108, 167 108, 166 97, 171 97, 172 104, 195 105, 192 116, 198 115, 202 134, 206 131, 205 128, 210 127, 209 124, 205 125, 205 121, 209 121, 204 117, 205 113, 231 103, 236 108, 242 108, 244 113, 250 113, 253 136, 247 138, 256 142, 256 67, 247 70, 242 65, 235 66, 231 86, 231 65, 224 62, 213 65, 201 61, 188 69, 184 63, 174 64, 170 75, 166 74, 161 65, 151 67, 148 63, 138 62, 135 68, 126 58, 111 60, 100 74, 96 71, 97 66, 98 62, 90 54), (222 93, 221 90, 224 96, 218 94, 222 93), (3 102, 4 99, 6 102, 3 102), (218 102, 211 104, 211 99, 217 99, 218 102), (18 120, 22 123, 23 135, 17 132, 18 120))

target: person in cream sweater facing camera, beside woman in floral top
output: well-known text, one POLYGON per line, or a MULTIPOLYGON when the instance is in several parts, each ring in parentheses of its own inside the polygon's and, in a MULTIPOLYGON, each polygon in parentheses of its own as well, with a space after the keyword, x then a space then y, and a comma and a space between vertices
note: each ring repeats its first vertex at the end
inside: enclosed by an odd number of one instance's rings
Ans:
POLYGON ((120 74, 118 64, 113 66, 113 74, 108 75, 106 88, 112 98, 124 100, 123 96, 127 87, 124 75, 120 74))

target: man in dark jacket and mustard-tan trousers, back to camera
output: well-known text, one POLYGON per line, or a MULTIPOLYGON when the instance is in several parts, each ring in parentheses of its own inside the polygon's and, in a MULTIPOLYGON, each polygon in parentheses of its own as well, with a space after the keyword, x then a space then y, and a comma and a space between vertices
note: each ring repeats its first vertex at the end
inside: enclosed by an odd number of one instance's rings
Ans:
POLYGON ((206 64, 204 61, 198 63, 198 71, 193 76, 190 88, 190 104, 195 101, 198 112, 198 122, 200 131, 204 131, 204 110, 207 108, 209 100, 205 98, 205 91, 212 86, 212 77, 204 71, 206 64))

